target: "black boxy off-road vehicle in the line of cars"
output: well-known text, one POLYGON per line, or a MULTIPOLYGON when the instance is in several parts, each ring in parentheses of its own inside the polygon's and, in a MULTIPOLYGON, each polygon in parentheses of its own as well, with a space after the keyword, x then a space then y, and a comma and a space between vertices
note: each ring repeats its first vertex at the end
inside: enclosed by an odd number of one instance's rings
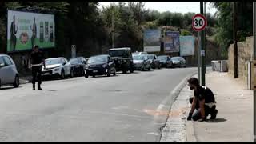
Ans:
POLYGON ((128 70, 130 70, 130 73, 134 72, 134 62, 129 47, 110 49, 108 50, 108 54, 114 60, 117 71, 122 71, 124 74, 128 70))

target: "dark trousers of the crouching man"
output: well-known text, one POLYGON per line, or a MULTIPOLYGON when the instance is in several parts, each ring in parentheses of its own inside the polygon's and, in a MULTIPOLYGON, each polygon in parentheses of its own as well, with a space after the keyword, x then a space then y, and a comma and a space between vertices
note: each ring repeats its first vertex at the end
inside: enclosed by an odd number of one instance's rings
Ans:
MULTIPOLYGON (((190 98, 190 104, 192 104, 193 99, 194 99, 194 97, 190 98)), ((209 114, 212 115, 214 113, 214 110, 216 109, 216 106, 212 106, 212 108, 210 108, 209 106, 205 105, 204 107, 205 107, 205 117, 207 117, 209 114)), ((198 119, 202 118, 199 101, 196 102, 195 109, 196 109, 196 111, 192 115, 192 119, 194 121, 197 121, 198 119)))

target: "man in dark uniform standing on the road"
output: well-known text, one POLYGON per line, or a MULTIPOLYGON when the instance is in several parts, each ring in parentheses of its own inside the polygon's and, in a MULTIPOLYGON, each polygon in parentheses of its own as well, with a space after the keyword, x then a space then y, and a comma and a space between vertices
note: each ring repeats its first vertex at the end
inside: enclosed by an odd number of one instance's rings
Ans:
POLYGON ((42 51, 39 51, 39 46, 34 46, 34 51, 30 55, 30 67, 32 67, 32 83, 33 90, 35 90, 35 82, 36 78, 38 79, 38 90, 42 90, 41 88, 41 74, 42 74, 42 66, 46 68, 45 60, 42 51))

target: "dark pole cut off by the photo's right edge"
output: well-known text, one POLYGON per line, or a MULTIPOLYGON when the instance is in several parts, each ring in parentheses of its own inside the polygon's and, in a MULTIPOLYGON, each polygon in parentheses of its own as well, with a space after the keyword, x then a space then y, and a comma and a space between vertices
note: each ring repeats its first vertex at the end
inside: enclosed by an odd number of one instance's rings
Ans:
MULTIPOLYGON (((253 33, 254 33, 253 60, 256 60, 256 28, 255 26, 256 26, 256 2, 253 2, 253 33)), ((254 90, 254 142, 256 142, 256 91, 255 90, 254 90)))

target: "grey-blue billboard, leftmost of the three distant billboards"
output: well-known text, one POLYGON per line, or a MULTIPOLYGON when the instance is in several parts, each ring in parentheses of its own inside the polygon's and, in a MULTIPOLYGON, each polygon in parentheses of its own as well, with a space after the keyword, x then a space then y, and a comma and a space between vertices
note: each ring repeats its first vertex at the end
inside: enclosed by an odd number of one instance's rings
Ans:
POLYGON ((144 51, 146 52, 157 52, 160 51, 160 36, 161 30, 158 29, 147 29, 144 30, 144 51))

